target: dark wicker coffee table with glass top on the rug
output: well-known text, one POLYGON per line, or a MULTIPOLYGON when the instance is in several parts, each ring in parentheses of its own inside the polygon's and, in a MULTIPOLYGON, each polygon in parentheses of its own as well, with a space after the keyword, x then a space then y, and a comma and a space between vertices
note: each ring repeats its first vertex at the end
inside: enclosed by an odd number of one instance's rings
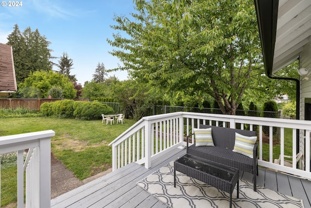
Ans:
POLYGON ((186 154, 174 161, 174 187, 176 187, 176 171, 202 181, 230 194, 232 207, 232 192, 237 185, 239 198, 239 170, 200 157, 186 154))

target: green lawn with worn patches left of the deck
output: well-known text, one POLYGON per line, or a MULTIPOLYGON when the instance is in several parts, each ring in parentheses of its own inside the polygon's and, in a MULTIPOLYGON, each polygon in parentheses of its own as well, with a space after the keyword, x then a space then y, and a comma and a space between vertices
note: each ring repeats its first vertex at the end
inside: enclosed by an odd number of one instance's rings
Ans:
MULTIPOLYGON (((83 180, 112 166, 112 149, 108 144, 135 122, 125 119, 123 124, 106 125, 102 120, 0 118, 0 136, 53 130, 52 153, 83 180)), ((17 201, 16 176, 16 166, 1 166, 1 207, 17 201)))

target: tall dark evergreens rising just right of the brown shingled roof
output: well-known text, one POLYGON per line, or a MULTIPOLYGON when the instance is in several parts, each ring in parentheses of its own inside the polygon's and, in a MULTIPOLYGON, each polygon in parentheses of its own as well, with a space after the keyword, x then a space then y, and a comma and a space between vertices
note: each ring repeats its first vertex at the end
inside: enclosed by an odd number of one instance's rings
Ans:
POLYGON ((8 45, 13 47, 17 84, 23 82, 31 72, 52 70, 50 41, 41 36, 38 29, 27 27, 22 33, 16 24, 8 36, 8 45))

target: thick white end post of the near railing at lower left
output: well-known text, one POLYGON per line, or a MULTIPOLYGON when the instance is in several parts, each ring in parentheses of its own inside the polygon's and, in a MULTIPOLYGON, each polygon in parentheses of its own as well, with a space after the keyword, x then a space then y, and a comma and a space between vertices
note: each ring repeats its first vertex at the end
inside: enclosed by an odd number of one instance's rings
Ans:
POLYGON ((51 138, 39 141, 39 190, 40 208, 51 207, 51 138))

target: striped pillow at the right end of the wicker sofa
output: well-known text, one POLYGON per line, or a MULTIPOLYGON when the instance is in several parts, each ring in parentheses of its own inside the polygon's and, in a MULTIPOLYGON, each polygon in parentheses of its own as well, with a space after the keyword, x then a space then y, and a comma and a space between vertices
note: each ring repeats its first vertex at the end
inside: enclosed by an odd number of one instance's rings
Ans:
POLYGON ((236 132, 233 151, 253 158, 253 148, 256 141, 257 136, 243 136, 236 132))

